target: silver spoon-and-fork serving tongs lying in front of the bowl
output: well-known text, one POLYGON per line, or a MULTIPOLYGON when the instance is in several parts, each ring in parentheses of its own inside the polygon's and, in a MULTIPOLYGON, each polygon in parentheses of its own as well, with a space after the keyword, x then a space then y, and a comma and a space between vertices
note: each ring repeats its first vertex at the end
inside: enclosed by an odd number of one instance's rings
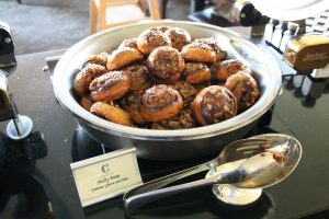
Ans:
POLYGON ((298 164, 302 146, 293 137, 283 134, 260 135, 249 139, 235 141, 222 151, 213 161, 150 181, 127 192, 124 207, 131 215, 138 207, 161 197, 214 184, 234 184, 240 188, 268 187, 283 181, 298 164), (212 173, 211 177, 161 188, 182 177, 211 170, 216 166, 239 160, 239 166, 230 172, 212 173), (160 189, 158 189, 160 188, 160 189))

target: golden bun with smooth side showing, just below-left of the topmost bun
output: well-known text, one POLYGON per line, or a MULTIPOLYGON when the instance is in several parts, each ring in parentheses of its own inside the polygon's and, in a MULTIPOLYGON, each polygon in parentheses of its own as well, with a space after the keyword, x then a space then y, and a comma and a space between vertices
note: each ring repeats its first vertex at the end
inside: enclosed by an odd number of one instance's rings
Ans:
POLYGON ((128 64, 143 59, 143 54, 138 49, 131 47, 121 47, 114 50, 106 62, 107 70, 116 70, 128 64))

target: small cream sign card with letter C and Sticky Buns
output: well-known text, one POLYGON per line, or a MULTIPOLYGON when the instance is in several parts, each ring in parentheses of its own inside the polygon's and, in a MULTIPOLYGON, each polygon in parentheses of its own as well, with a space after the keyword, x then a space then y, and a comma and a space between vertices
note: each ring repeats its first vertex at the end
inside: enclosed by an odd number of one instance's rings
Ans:
POLYGON ((136 149, 122 149, 70 164, 82 207, 143 184, 136 149))

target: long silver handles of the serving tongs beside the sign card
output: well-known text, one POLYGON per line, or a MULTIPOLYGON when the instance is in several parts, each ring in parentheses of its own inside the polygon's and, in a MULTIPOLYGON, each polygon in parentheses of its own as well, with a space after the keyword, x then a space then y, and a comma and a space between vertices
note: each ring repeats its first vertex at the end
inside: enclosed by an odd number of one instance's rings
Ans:
POLYGON ((183 177, 206 171, 211 169, 211 162, 207 163, 202 163, 200 165, 195 165, 182 171, 179 171, 177 173, 172 173, 169 175, 166 175, 163 177, 150 181, 148 183, 145 183, 141 186, 138 186, 136 188, 133 188, 132 191, 127 192, 124 197, 124 207, 126 210, 127 215, 131 215, 135 209, 137 209, 138 207, 150 203, 152 200, 156 200, 160 197, 173 194, 173 193, 178 193, 179 192, 183 192, 183 191, 188 191, 191 189, 192 187, 195 187, 195 185, 197 185, 197 183, 195 184, 195 182, 193 182, 192 184, 194 186, 191 186, 191 183, 188 184, 182 184, 182 185, 178 185, 178 186, 171 186, 168 188, 162 188, 162 189, 158 189, 161 188, 170 183, 173 183, 178 180, 181 180, 183 177))

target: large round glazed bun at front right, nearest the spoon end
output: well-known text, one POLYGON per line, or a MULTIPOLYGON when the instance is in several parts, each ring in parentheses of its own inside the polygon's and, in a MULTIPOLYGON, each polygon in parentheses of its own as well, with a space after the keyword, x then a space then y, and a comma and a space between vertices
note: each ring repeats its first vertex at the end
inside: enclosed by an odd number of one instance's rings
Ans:
POLYGON ((211 85, 197 93, 191 103, 192 114, 201 125, 226 120, 237 115, 237 99, 225 87, 211 85))

